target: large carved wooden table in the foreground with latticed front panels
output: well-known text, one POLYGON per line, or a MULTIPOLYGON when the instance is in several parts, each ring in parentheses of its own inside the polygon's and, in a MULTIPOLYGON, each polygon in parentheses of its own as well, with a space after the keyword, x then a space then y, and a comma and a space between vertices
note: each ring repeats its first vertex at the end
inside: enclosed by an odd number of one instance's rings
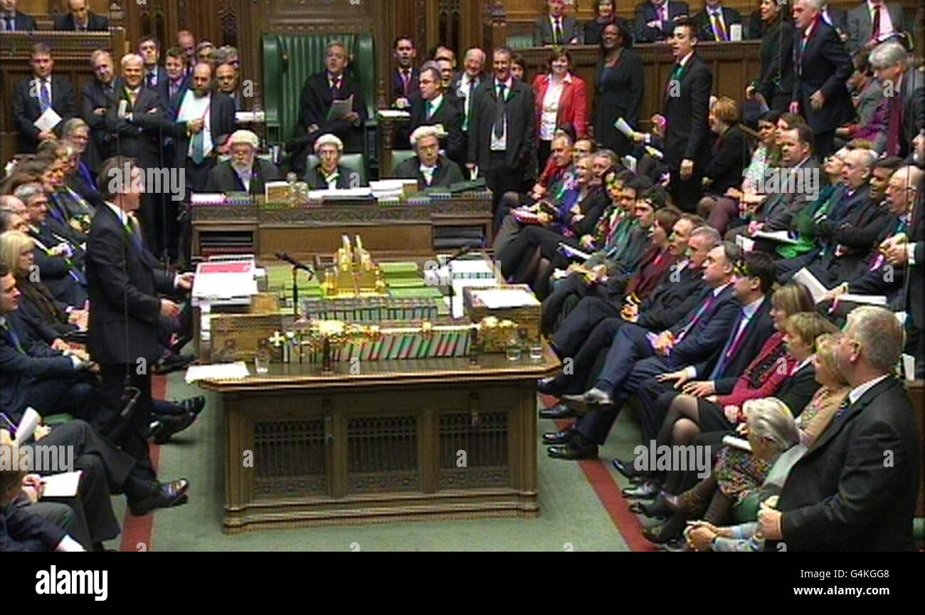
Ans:
POLYGON ((536 378, 559 365, 547 346, 201 381, 225 417, 223 529, 535 517, 536 378))

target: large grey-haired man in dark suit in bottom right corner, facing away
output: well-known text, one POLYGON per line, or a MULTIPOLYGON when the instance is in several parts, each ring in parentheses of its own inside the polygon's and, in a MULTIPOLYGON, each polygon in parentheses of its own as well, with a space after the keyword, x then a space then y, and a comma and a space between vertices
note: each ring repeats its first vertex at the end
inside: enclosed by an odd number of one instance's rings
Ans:
POLYGON ((835 349, 853 387, 832 423, 791 469, 777 506, 762 504, 766 550, 915 548, 912 518, 922 443, 903 383, 893 375, 903 327, 881 307, 848 315, 835 349))

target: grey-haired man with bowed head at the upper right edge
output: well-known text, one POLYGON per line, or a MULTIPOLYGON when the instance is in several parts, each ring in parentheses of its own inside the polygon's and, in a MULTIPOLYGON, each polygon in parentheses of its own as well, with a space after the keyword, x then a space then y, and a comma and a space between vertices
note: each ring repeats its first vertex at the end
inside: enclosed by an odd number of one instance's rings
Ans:
POLYGON ((909 70, 906 49, 895 41, 882 43, 870 52, 870 67, 881 82, 882 105, 887 105, 889 118, 883 154, 905 157, 919 131, 916 113, 923 105, 925 77, 918 70, 909 70))

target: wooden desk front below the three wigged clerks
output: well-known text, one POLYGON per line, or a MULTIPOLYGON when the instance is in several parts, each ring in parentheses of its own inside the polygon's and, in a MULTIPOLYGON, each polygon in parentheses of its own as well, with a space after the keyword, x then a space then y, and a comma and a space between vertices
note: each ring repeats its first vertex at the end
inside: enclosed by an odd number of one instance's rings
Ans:
POLYGON ((341 235, 360 235, 374 258, 420 259, 436 252, 435 228, 476 227, 492 242, 491 193, 472 191, 427 204, 326 203, 311 206, 196 205, 192 256, 276 252, 312 259, 330 256, 341 235))

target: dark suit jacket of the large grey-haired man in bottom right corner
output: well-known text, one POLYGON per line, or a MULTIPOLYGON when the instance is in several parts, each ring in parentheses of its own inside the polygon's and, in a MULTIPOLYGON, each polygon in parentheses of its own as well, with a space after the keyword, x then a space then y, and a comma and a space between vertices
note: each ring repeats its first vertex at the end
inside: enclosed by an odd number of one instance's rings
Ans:
POLYGON ((907 392, 889 376, 835 418, 791 468, 777 506, 787 550, 913 550, 921 449, 907 392))

